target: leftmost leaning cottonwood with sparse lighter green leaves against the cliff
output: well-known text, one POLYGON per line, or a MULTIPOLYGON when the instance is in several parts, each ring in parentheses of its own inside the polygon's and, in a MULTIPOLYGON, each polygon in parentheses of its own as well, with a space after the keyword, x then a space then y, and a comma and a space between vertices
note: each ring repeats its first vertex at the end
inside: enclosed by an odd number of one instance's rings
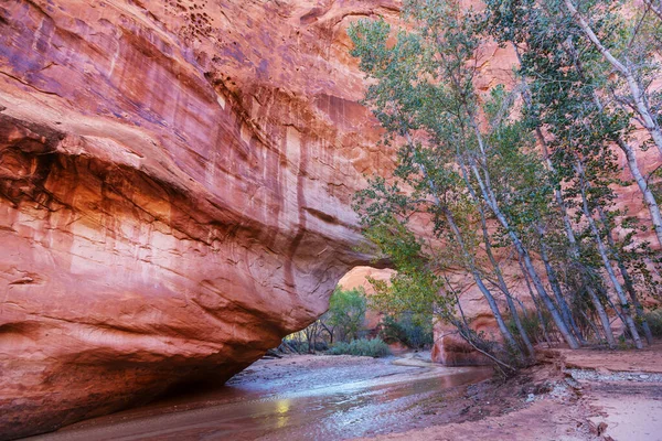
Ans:
MULTIPOLYGON (((494 294, 484 282, 484 266, 477 258, 480 240, 476 229, 462 225, 472 217, 479 217, 484 225, 487 216, 493 216, 525 261, 562 334, 576 347, 575 337, 567 331, 532 263, 521 232, 511 225, 512 219, 502 209, 492 184, 496 149, 489 144, 490 133, 479 127, 480 109, 472 87, 476 64, 468 65, 478 47, 472 18, 463 15, 457 4, 445 2, 425 6, 409 2, 405 10, 417 31, 398 33, 393 46, 386 43, 391 28, 382 21, 360 22, 350 30, 355 44, 353 54, 361 57, 362 68, 376 79, 369 88, 366 103, 388 130, 389 140, 403 141, 394 175, 412 189, 407 198, 397 185, 374 181, 370 193, 362 196, 377 202, 371 205, 363 201, 363 222, 373 226, 385 219, 393 222, 388 216, 394 215, 402 218, 416 212, 430 215, 433 233, 457 249, 458 262, 469 271, 488 301, 506 345, 521 355, 524 351, 505 325, 494 294)), ((484 233, 483 229, 483 236, 484 233)), ((491 246, 490 240, 485 244, 491 246)), ((490 260, 492 271, 500 275, 495 260, 490 260)), ((444 267, 448 262, 435 265, 444 267)), ((504 283, 499 284, 505 291, 504 283)), ((511 295, 506 298, 512 300, 511 295)), ((511 314, 516 316, 516 309, 510 305, 511 314)), ((526 346, 527 352, 533 352, 530 344, 526 346)))

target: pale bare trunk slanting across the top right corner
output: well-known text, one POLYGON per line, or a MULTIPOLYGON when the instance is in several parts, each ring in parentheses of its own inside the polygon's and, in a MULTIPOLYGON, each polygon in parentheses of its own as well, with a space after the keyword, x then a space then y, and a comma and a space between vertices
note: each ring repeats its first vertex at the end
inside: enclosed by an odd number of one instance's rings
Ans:
POLYGON ((590 24, 588 24, 586 19, 584 19, 579 11, 577 11, 577 8, 575 7, 572 0, 565 0, 565 6, 570 12, 573 19, 584 31, 588 40, 590 40, 594 46, 596 46, 596 49, 602 54, 602 56, 605 57, 605 60, 607 60, 611 67, 613 67, 613 69, 618 72, 628 83, 628 87, 630 88, 630 97, 634 101, 634 110, 639 115, 643 128, 648 130, 660 154, 662 154, 662 131, 660 130, 660 125, 653 117, 653 114, 650 109, 650 105, 648 104, 645 97, 645 92, 641 86, 640 82, 634 76, 634 73, 632 72, 632 66, 629 65, 629 62, 626 61, 623 63, 617 60, 613 56, 613 54, 611 54, 611 51, 609 51, 609 49, 607 49, 602 44, 600 39, 598 39, 598 36, 595 34, 595 32, 590 28, 590 24))

